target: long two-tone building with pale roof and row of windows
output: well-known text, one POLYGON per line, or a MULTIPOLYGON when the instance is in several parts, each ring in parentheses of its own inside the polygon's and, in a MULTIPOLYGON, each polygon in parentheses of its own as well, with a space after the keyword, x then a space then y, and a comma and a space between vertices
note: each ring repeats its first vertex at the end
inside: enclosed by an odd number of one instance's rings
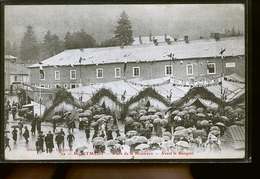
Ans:
POLYGON ((245 39, 200 39, 142 43, 132 46, 65 50, 29 66, 31 84, 72 89, 129 79, 162 77, 214 78, 236 73, 245 77, 245 39), (220 52, 223 51, 222 55, 220 52), (40 75, 42 66, 44 75, 40 75))

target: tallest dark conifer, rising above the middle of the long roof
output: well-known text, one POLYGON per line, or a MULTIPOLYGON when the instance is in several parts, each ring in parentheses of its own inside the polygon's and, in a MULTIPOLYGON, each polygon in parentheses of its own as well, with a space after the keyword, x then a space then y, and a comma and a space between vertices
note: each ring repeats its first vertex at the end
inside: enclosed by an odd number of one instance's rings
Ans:
POLYGON ((125 11, 120 14, 117 23, 118 26, 116 27, 115 37, 118 38, 121 45, 131 45, 134 42, 133 31, 131 21, 125 11))

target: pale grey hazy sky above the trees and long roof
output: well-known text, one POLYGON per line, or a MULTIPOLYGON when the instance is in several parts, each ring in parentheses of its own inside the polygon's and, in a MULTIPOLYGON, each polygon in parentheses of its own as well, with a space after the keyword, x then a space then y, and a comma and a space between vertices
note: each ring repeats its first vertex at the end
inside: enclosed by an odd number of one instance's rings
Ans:
POLYGON ((98 43, 113 36, 117 20, 125 10, 132 23, 134 36, 188 35, 190 39, 205 38, 210 31, 244 32, 244 6, 219 5, 19 5, 5 6, 5 40, 20 44, 30 24, 37 41, 43 41, 48 30, 63 40, 67 31, 84 29, 98 43))

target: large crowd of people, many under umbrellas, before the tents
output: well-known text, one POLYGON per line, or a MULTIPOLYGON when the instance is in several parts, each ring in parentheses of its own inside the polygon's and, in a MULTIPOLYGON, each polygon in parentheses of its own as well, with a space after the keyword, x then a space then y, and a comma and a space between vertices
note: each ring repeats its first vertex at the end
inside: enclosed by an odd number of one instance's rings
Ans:
MULTIPOLYGON (((65 134, 60 126, 59 114, 55 113, 50 124, 53 131, 46 134, 41 129, 43 119, 35 115, 30 121, 31 135, 37 135, 35 143, 38 154, 42 152, 52 153, 54 143, 58 151, 63 152, 65 139, 70 151, 73 151, 73 143, 76 133, 84 131, 86 142, 75 151, 84 155, 86 145, 92 145, 94 153, 110 152, 120 154, 122 152, 162 151, 162 152, 221 152, 221 136, 226 128, 231 125, 244 125, 245 111, 242 108, 230 106, 220 110, 212 107, 181 107, 160 110, 156 107, 142 107, 129 111, 122 124, 110 109, 94 105, 89 109, 78 109, 78 118, 70 119, 70 112, 66 112, 63 128, 67 128, 65 134), (56 116, 56 117, 55 117, 56 116), (78 122, 77 122, 78 121, 78 122), (76 123, 78 126, 76 126, 76 123), (122 128, 119 128, 121 126, 122 128), (77 131, 74 131, 78 128, 77 131), (93 131, 93 132, 91 132, 93 131)), ((61 116, 60 116, 61 117, 61 116)), ((63 116, 64 117, 64 116, 63 116)), ((28 126, 24 126, 20 120, 16 126, 12 126, 12 139, 16 143, 18 131, 25 142, 29 142, 30 132, 28 126), (24 130, 23 130, 24 129, 24 130)), ((6 148, 10 148, 10 139, 6 135, 6 148)))

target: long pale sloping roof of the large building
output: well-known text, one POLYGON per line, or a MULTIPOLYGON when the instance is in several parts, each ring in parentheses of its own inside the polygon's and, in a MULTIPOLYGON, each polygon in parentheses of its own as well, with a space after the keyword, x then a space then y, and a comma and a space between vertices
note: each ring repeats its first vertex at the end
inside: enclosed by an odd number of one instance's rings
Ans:
MULTIPOLYGON (((79 59, 83 58, 81 65, 97 65, 109 63, 147 62, 169 60, 167 56, 173 53, 177 59, 220 57, 220 51, 226 48, 224 56, 239 56, 245 54, 245 41, 243 37, 215 39, 201 39, 190 41, 176 41, 171 44, 162 43, 141 44, 121 47, 86 48, 65 50, 53 57, 41 61, 42 66, 74 66, 80 65, 79 59)), ((33 64, 29 68, 39 67, 33 64)))

